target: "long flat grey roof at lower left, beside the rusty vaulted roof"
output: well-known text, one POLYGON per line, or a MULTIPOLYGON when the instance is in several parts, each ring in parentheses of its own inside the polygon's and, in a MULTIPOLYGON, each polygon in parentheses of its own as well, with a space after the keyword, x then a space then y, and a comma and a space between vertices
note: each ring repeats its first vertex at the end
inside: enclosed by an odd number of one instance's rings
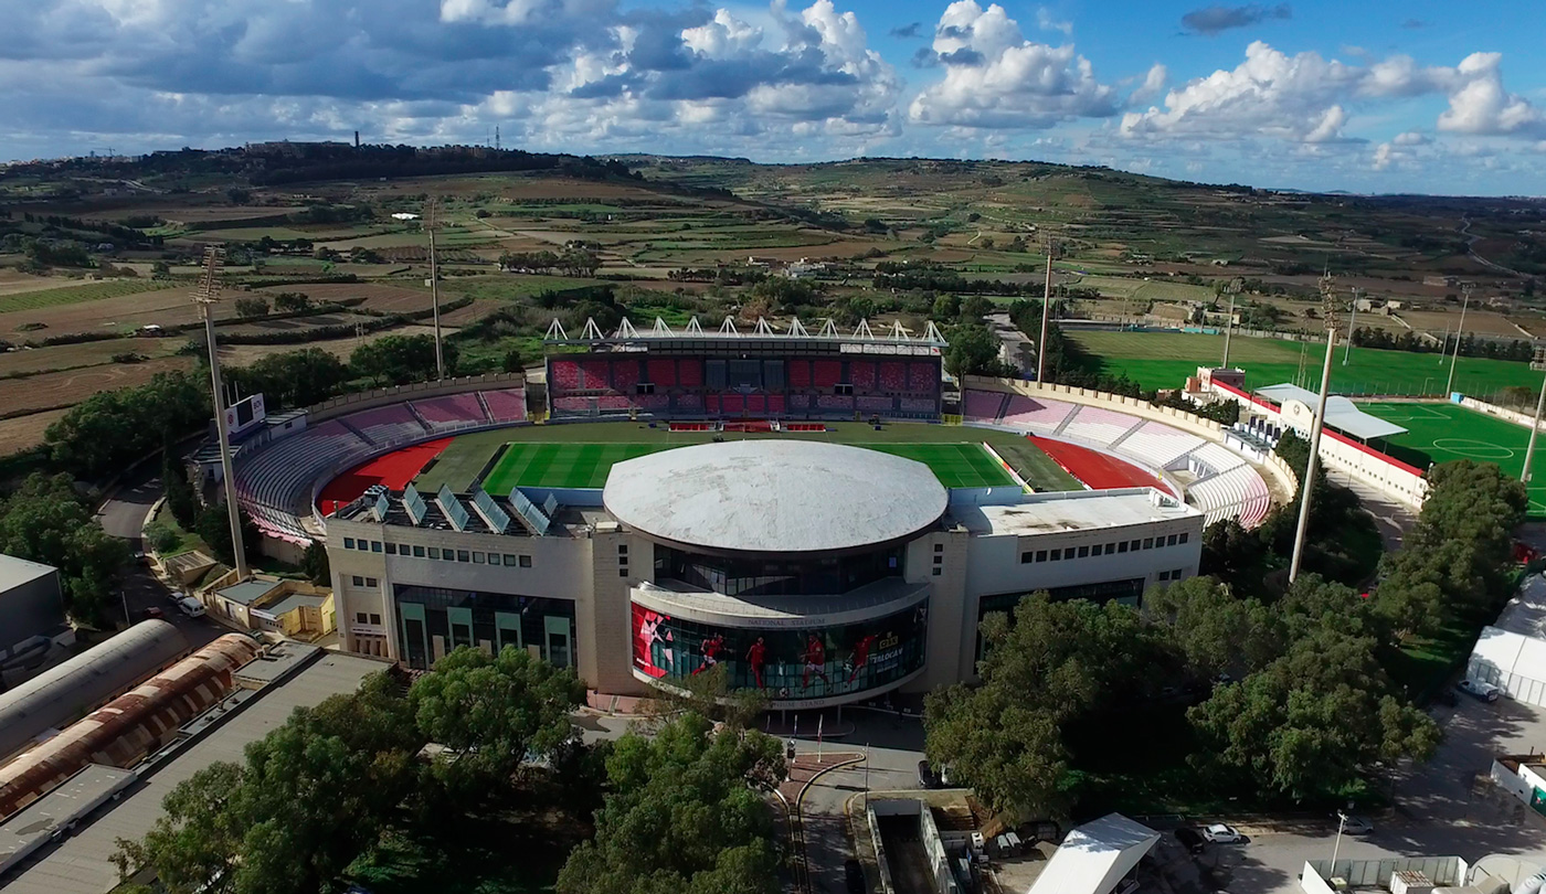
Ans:
POLYGON ((195 772, 216 761, 241 763, 247 743, 281 726, 297 707, 309 707, 343 692, 354 692, 382 661, 329 652, 295 676, 263 690, 224 726, 161 764, 141 787, 124 795, 116 808, 49 849, 42 858, 8 880, 6 894, 104 894, 119 883, 108 860, 116 838, 139 838, 161 817, 161 800, 195 772))

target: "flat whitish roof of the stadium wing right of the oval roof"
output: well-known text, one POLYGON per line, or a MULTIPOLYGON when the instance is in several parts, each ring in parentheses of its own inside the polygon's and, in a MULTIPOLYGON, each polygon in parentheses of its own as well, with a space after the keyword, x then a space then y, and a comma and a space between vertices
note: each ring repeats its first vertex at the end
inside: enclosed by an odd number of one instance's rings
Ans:
POLYGON ((954 506, 951 517, 979 536, 1093 531, 1201 516, 1153 488, 1030 494, 1005 506, 954 506))

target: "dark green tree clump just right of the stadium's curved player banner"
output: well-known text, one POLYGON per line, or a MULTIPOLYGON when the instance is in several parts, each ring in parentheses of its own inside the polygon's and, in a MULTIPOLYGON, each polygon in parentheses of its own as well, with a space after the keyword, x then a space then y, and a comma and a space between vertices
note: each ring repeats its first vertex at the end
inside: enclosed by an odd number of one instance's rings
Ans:
POLYGON ((925 699, 925 747, 994 812, 1067 815, 1064 727, 1130 695, 1155 655, 1136 610, 1084 599, 1020 599, 1013 622, 982 622, 982 684, 940 689, 925 699))

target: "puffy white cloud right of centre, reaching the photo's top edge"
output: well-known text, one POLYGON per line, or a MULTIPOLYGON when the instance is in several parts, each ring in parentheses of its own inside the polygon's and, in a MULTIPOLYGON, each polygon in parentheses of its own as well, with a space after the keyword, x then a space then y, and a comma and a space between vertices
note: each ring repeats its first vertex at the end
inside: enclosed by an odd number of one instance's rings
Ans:
POLYGON ((1113 88, 1096 80, 1088 59, 1071 43, 1027 40, 997 3, 951 3, 934 29, 934 52, 945 79, 914 97, 908 117, 917 124, 1045 128, 1116 113, 1113 88))

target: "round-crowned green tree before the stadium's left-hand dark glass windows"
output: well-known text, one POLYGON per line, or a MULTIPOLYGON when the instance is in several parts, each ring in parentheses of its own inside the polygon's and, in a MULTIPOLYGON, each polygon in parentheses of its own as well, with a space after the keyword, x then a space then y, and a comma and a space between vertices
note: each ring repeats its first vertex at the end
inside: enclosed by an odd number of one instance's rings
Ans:
POLYGON ((450 749, 434 761, 436 774, 450 791, 472 795, 507 784, 527 755, 569 744, 577 735, 569 713, 584 704, 584 682, 515 647, 489 656, 464 645, 413 684, 408 703, 424 735, 450 749))

